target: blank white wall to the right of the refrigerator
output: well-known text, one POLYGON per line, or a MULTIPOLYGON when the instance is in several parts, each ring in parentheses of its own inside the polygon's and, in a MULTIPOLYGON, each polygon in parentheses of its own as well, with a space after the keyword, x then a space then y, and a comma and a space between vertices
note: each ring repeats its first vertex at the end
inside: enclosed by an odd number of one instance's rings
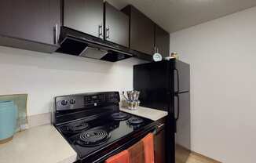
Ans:
POLYGON ((256 8, 170 34, 191 64, 192 150, 225 163, 254 163, 256 8))

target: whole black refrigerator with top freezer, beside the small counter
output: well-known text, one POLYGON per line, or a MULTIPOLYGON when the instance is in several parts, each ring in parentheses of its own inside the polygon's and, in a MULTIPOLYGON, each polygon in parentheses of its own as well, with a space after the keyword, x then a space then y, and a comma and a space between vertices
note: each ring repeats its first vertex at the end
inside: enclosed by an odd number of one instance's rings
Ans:
POLYGON ((190 67, 180 60, 133 66, 133 89, 141 92, 141 107, 168 111, 166 161, 185 163, 190 154, 190 67))

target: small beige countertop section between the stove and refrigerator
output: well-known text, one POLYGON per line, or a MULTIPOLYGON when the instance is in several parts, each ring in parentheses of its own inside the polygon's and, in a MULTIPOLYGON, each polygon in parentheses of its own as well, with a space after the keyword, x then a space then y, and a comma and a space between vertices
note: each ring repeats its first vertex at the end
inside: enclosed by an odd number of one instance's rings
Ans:
POLYGON ((120 110, 122 110, 126 113, 130 113, 130 114, 134 114, 134 115, 141 116, 144 118, 148 118, 153 121, 157 121, 157 120, 165 117, 166 115, 168 115, 167 111, 156 110, 156 109, 152 109, 152 108, 148 108, 148 107, 138 107, 137 110, 129 110, 127 108, 120 107, 120 110))

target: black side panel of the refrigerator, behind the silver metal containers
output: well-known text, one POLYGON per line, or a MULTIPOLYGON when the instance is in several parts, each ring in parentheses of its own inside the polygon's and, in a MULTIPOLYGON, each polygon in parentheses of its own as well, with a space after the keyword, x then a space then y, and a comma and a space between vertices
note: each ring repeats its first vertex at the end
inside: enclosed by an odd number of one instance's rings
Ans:
POLYGON ((168 110, 168 66, 167 61, 133 66, 133 89, 141 92, 141 107, 168 110))

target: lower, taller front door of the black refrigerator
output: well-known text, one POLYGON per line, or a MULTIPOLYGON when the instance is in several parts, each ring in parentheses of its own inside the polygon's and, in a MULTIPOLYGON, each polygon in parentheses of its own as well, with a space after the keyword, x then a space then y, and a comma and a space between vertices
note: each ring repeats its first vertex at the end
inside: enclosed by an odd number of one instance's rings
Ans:
POLYGON ((180 93, 174 97, 176 118, 175 161, 185 163, 191 149, 190 93, 180 93))

